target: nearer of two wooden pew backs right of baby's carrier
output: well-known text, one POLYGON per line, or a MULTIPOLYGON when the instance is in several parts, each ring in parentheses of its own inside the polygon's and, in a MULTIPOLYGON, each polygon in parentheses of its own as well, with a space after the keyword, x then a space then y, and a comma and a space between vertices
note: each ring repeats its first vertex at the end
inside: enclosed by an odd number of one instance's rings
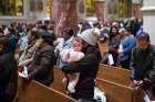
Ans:
POLYGON ((97 78, 96 81, 107 102, 133 102, 134 89, 104 79, 97 78))

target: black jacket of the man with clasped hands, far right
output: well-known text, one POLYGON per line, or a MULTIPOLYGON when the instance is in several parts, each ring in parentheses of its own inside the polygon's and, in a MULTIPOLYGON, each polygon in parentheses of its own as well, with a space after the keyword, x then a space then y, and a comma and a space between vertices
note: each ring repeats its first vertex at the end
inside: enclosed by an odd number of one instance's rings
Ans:
POLYGON ((145 52, 138 47, 134 48, 131 69, 132 79, 143 80, 146 90, 152 89, 153 86, 155 90, 155 46, 149 45, 145 52))

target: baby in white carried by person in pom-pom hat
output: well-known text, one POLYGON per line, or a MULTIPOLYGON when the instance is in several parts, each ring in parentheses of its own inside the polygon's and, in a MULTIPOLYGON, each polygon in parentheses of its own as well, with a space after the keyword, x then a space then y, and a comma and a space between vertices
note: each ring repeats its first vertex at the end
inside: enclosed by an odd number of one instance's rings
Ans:
MULTIPOLYGON (((70 49, 64 49, 60 53, 62 60, 68 61, 68 63, 74 63, 74 61, 79 61, 80 59, 82 59, 84 57, 84 54, 81 52, 81 43, 80 43, 80 38, 75 37, 72 41, 72 46, 70 49)), ((74 93, 75 89, 74 87, 76 86, 78 81, 79 81, 79 77, 80 73, 73 73, 73 75, 66 75, 68 79, 64 78, 63 82, 69 81, 68 84, 68 90, 70 93, 74 93)))

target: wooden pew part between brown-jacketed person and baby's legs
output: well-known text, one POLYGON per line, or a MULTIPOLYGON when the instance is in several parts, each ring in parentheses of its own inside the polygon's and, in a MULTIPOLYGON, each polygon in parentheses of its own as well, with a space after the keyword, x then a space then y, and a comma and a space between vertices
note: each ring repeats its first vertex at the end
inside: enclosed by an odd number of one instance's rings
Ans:
POLYGON ((50 88, 55 89, 59 92, 62 93, 66 93, 65 92, 65 87, 62 83, 62 79, 64 78, 64 73, 62 72, 62 70, 60 68, 58 68, 56 66, 54 67, 54 81, 53 83, 50 86, 50 88))

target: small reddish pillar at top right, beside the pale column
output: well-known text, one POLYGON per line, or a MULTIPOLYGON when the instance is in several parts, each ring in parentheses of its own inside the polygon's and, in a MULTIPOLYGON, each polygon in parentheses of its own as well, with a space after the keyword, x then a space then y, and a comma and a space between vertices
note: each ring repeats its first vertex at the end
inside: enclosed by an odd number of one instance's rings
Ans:
POLYGON ((141 0, 132 0, 133 3, 133 16, 141 18, 141 0))

